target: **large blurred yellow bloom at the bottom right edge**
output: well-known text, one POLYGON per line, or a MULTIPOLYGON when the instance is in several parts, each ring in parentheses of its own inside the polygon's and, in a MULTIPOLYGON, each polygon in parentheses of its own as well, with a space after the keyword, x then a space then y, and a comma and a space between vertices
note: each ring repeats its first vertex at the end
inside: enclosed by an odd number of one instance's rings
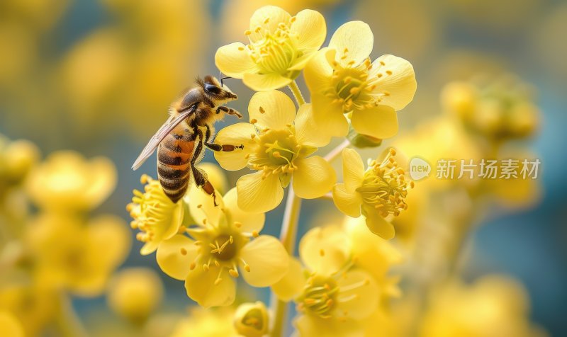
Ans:
POLYGON ((488 275, 473 285, 452 282, 433 292, 419 336, 545 336, 529 322, 526 292, 515 280, 488 275))

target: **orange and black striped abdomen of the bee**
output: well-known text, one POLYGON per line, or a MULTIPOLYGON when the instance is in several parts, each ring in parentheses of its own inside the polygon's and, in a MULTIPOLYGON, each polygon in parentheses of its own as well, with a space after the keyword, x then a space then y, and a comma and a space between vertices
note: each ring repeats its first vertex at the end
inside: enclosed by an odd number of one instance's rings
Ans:
POLYGON ((191 181, 195 142, 189 139, 191 134, 184 127, 179 127, 170 132, 157 148, 157 178, 165 195, 173 202, 183 198, 191 181))

